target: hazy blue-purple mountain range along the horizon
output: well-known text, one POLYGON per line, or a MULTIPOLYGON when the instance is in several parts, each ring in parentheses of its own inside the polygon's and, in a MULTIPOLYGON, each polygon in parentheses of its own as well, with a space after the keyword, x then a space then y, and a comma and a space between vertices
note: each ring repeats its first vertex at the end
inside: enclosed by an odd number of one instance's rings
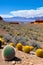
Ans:
POLYGON ((25 17, 11 17, 11 18, 3 18, 6 22, 31 22, 35 20, 43 20, 43 17, 34 17, 34 18, 25 18, 25 17))

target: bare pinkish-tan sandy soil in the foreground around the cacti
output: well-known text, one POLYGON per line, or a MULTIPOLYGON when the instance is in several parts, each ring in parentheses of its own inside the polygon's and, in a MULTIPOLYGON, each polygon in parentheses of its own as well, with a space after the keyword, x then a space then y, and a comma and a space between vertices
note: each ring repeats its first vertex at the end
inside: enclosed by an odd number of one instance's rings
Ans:
POLYGON ((15 58, 11 61, 5 61, 2 58, 2 50, 3 49, 0 49, 0 65, 43 65, 43 58, 37 57, 35 52, 27 54, 15 49, 15 58), (12 64, 12 62, 14 62, 14 64, 12 64))

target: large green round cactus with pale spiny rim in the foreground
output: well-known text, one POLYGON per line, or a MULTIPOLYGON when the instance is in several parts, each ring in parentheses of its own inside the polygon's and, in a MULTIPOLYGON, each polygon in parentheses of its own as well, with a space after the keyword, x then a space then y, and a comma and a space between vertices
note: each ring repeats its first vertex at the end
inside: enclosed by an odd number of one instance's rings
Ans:
POLYGON ((2 56, 5 60, 11 60, 15 57, 15 50, 12 46, 5 46, 2 51, 2 56))

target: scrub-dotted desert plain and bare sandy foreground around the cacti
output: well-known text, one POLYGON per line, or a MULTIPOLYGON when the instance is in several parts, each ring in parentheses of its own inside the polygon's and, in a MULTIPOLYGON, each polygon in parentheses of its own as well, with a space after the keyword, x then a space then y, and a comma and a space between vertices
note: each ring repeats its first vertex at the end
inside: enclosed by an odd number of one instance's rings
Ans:
POLYGON ((15 48, 15 58, 11 61, 5 61, 2 58, 4 45, 0 49, 0 65, 13 65, 13 62, 15 62, 14 65, 43 65, 43 58, 35 55, 36 48, 41 47, 43 49, 43 24, 9 24, 2 21, 0 22, 0 37, 5 39, 6 44, 21 42, 25 45, 35 46, 29 54, 15 48))

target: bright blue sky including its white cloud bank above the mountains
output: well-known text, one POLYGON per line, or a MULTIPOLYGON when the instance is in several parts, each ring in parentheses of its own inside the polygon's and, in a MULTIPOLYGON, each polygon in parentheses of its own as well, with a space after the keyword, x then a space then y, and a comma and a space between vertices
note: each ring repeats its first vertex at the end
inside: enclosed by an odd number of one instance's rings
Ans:
POLYGON ((38 12, 41 10, 41 14, 43 14, 43 0, 0 0, 0 15, 2 17, 23 15, 23 17, 26 17, 27 14, 33 15, 33 13, 37 12, 37 10, 38 12), (26 12, 28 13, 25 14, 26 12))

